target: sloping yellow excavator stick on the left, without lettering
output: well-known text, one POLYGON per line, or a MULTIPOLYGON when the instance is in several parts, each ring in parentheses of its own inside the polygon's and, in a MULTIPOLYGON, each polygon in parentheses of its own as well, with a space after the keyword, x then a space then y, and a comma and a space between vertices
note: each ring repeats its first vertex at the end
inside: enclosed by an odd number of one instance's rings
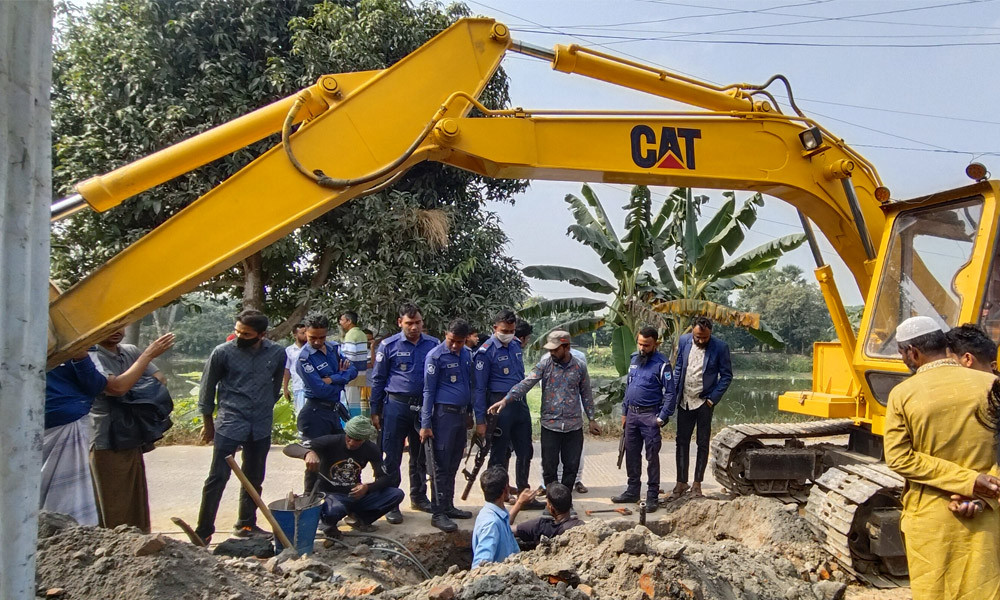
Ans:
MULTIPOLYGON (((456 89, 473 96, 482 91, 509 43, 505 35, 495 34, 494 24, 492 19, 463 20, 369 77, 337 102, 335 110, 325 111, 292 136, 298 159, 347 178, 391 163, 456 89)), ((462 116, 470 107, 467 100, 457 98, 449 114, 462 116)), ((279 113, 269 110, 258 122, 245 123, 252 133, 230 131, 223 136, 225 143, 249 143, 280 130, 285 115, 279 113)), ((131 165, 120 169, 118 176, 97 180, 108 192, 99 190, 92 203, 107 208, 165 180, 168 177, 156 172, 157 163, 176 170, 216 157, 207 142, 199 142, 197 150, 175 146, 158 154, 157 161, 145 163, 139 174, 131 165)), ((399 171, 416 160, 401 165, 399 171)), ((272 148, 53 300, 49 365, 172 302, 368 187, 340 191, 320 187, 289 163, 281 147, 272 148)), ((93 188, 80 191, 87 196, 93 188)))

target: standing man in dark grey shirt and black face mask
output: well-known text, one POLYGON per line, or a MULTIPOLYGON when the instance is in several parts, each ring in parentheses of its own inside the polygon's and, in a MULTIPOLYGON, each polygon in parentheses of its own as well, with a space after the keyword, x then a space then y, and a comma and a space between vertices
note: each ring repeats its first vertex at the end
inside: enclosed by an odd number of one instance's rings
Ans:
MULTIPOLYGON (((214 443, 215 449, 195 531, 206 542, 215 533, 215 515, 232 473, 226 457, 243 446, 241 467, 258 494, 264 482, 274 404, 281 395, 286 359, 284 348, 264 339, 267 325, 267 317, 260 311, 241 312, 236 318, 236 338, 216 346, 205 362, 198 397, 198 409, 205 420, 201 436, 206 444, 214 443), (217 395, 219 414, 213 419, 217 395)), ((266 535, 256 523, 257 507, 246 491, 241 490, 234 534, 266 535)))

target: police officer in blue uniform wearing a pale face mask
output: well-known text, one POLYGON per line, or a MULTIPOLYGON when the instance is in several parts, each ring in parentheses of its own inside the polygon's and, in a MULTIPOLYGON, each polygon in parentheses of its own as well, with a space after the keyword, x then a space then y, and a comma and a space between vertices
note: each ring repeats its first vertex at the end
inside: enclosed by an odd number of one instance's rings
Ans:
MULTIPOLYGON (((507 395, 510 388, 524 379, 524 359, 521 342, 515 337, 517 317, 512 311, 502 310, 493 319, 493 335, 479 347, 473 357, 475 370, 476 402, 493 406, 507 395)), ((497 431, 490 452, 489 466, 510 466, 513 448, 517 456, 515 482, 517 491, 530 487, 528 475, 534 449, 531 446, 531 413, 525 402, 514 402, 497 417, 497 431)), ((545 505, 532 500, 525 508, 544 508, 545 505)))

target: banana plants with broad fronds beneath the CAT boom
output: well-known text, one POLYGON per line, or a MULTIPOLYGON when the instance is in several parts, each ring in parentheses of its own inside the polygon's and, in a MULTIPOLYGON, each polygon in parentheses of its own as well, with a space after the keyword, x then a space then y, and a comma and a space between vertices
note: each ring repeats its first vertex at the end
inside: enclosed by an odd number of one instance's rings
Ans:
MULTIPOLYGON (((639 326, 658 326, 672 336, 672 347, 676 347, 684 322, 694 315, 711 312, 722 322, 739 322, 735 309, 705 303, 749 285, 753 281, 751 273, 773 266, 784 252, 805 241, 802 234, 785 236, 726 262, 743 243, 745 230, 756 221, 757 209, 764 203, 760 194, 746 200, 738 210, 735 194, 725 194, 727 200, 722 208, 699 230, 701 201, 693 199, 690 190, 675 189, 654 214, 649 189, 635 186, 624 207, 623 237, 614 230, 604 206, 589 185, 584 184, 581 195, 582 198, 573 194, 566 196, 576 221, 569 226, 567 234, 597 252, 611 277, 554 265, 529 266, 523 272, 534 279, 564 281, 611 296, 609 303, 588 298, 550 300, 536 305, 534 311, 552 314, 581 309, 571 312, 571 317, 553 328, 565 329, 572 325, 574 331, 571 333, 577 334, 598 323, 594 311, 606 306, 607 322, 615 325, 612 356, 620 375, 628 370, 629 356, 635 350, 634 332, 639 326), (668 252, 672 254, 670 258, 668 252), (655 273, 644 269, 648 263, 655 266, 655 273), (700 304, 671 303, 678 300, 700 304)), ((759 317, 747 323, 744 326, 751 333, 757 332, 758 339, 781 345, 780 339, 759 323, 759 317)), ((544 339, 544 335, 536 340, 544 339)))

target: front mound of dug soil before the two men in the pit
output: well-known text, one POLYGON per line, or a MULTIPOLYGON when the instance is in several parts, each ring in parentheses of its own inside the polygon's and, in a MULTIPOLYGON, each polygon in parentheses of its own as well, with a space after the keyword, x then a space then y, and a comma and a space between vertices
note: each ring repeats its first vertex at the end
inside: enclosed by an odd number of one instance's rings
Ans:
POLYGON ((501 564, 377 594, 380 600, 542 598, 832 600, 845 584, 811 583, 787 558, 734 540, 661 537, 633 521, 591 522, 501 564))

